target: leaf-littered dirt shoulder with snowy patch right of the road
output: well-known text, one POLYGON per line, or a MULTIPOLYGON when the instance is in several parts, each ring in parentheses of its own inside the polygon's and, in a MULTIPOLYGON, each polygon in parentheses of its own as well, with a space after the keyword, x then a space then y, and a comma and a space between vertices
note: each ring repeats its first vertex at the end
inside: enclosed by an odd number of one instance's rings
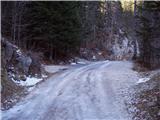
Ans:
POLYGON ((141 75, 150 79, 133 88, 128 111, 133 114, 133 120, 160 120, 160 71, 141 75))

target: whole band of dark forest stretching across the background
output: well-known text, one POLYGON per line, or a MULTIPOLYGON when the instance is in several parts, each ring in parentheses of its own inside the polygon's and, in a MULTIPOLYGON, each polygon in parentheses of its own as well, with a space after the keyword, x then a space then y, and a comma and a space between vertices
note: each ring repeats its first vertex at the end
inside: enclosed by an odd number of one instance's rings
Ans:
POLYGON ((127 11, 120 1, 1 3, 2 36, 10 37, 20 48, 41 51, 50 60, 75 56, 80 48, 98 48, 111 54, 114 40, 122 31, 133 39, 135 58, 138 40, 141 61, 151 68, 160 66, 159 1, 135 0, 127 11), (129 11, 133 4, 134 11, 129 11))

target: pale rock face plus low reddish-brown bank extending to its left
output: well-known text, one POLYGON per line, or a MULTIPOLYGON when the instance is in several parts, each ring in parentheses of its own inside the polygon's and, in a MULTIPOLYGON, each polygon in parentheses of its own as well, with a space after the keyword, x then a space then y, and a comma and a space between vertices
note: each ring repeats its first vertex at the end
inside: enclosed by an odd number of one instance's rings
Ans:
POLYGON ((104 46, 102 49, 81 48, 80 55, 88 60, 132 60, 135 54, 139 55, 138 42, 121 29, 104 46))

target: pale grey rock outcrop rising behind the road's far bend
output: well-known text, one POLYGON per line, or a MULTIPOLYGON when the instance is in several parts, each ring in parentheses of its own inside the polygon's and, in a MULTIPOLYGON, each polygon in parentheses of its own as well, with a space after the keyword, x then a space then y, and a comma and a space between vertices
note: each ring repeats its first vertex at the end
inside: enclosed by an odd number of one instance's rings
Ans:
POLYGON ((109 46, 114 60, 131 60, 134 54, 139 54, 138 43, 131 36, 126 35, 121 29, 114 35, 112 45, 109 46), (136 48, 136 49, 135 49, 136 48))

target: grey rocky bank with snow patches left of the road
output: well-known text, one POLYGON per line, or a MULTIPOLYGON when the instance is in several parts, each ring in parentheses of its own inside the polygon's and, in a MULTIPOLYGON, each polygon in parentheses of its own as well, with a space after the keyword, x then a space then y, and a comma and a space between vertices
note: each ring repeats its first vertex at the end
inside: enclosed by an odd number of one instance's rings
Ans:
POLYGON ((5 38, 1 40, 1 53, 2 108, 7 109, 25 94, 25 88, 15 82, 25 81, 29 75, 40 76, 41 64, 36 55, 31 52, 22 52, 5 38))

